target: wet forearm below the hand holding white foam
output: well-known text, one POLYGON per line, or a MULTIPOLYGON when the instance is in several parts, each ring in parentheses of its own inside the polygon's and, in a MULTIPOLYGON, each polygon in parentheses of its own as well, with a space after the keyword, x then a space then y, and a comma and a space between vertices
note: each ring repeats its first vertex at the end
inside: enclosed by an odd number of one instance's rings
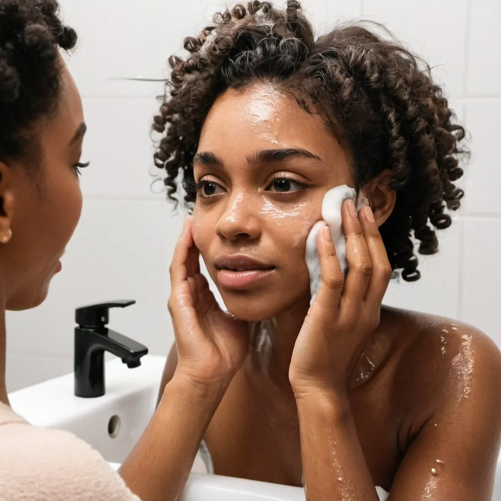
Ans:
POLYGON ((298 400, 307 501, 378 501, 347 398, 298 400))

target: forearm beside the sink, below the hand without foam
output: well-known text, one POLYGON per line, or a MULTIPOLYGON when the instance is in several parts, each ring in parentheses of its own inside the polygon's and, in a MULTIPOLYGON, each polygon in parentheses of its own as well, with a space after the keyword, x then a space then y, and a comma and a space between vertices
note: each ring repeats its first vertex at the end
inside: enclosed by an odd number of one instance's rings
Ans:
POLYGON ((181 377, 166 385, 155 414, 120 474, 142 501, 173 501, 184 487, 221 386, 195 387, 181 377))

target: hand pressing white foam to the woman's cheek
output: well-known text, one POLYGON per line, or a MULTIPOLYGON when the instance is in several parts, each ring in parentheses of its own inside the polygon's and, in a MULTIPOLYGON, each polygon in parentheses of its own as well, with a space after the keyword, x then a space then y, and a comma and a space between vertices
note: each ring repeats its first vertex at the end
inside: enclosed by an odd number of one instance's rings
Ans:
POLYGON ((342 219, 348 274, 345 280, 325 225, 318 236, 322 283, 299 333, 289 370, 296 397, 318 390, 345 395, 368 337, 379 325, 392 271, 386 249, 370 207, 357 217, 353 202, 346 201, 342 219))

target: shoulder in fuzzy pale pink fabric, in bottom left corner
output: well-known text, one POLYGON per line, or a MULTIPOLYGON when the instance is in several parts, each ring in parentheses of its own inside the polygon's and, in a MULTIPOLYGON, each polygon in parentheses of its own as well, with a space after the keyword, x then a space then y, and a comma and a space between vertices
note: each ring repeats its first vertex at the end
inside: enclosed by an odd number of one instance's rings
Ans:
POLYGON ((4 424, 0 444, 3 499, 139 501, 104 458, 72 433, 4 424))

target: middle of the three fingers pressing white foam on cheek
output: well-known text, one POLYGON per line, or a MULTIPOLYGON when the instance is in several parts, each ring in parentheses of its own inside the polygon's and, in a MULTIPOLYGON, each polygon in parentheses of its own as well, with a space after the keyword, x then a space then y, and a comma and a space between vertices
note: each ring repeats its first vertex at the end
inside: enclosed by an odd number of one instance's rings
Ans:
POLYGON ((353 200, 346 200, 343 203, 342 220, 343 232, 346 238, 346 262, 348 264, 343 296, 350 303, 357 303, 363 301, 369 286, 372 261, 353 200))

